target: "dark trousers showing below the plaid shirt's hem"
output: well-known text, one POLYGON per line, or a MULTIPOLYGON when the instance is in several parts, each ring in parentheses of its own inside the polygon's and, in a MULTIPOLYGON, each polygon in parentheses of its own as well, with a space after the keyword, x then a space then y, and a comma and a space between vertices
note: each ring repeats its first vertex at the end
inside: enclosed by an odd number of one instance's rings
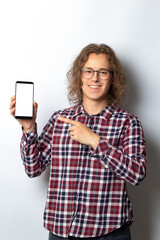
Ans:
POLYGON ((125 224, 121 228, 109 234, 106 234, 100 237, 93 237, 93 238, 76 238, 71 236, 69 236, 68 238, 62 238, 50 232, 49 240, 131 240, 131 234, 130 234, 130 226, 128 224, 125 224))

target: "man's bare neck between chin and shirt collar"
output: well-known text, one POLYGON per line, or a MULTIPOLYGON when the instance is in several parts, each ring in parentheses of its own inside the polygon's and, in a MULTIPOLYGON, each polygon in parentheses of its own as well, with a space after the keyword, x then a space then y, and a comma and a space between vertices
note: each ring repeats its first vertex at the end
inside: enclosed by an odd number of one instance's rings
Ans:
POLYGON ((88 114, 95 115, 101 112, 107 106, 107 103, 107 101, 83 101, 83 107, 88 114))

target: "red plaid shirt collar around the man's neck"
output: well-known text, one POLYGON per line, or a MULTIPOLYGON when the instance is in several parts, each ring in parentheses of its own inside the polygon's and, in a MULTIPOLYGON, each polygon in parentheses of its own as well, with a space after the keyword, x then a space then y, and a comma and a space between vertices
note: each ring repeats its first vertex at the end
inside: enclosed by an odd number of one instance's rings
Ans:
POLYGON ((74 112, 73 112, 73 117, 76 117, 78 115, 88 115, 88 116, 92 116, 92 117, 101 117, 104 120, 107 120, 112 114, 113 112, 116 110, 117 106, 115 104, 111 104, 111 105, 107 105, 101 112, 99 112, 98 114, 95 115, 89 115, 84 107, 83 104, 81 103, 79 106, 75 107, 74 112))

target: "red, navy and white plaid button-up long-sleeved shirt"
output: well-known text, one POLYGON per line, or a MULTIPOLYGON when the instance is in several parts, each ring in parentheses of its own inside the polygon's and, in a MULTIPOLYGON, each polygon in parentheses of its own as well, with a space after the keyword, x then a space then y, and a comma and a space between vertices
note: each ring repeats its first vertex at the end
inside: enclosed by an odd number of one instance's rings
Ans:
POLYGON ((145 176, 141 123, 115 105, 89 115, 82 105, 55 112, 38 138, 23 132, 21 156, 29 177, 51 164, 44 226, 61 237, 95 237, 132 222, 126 181, 138 185, 145 176), (69 124, 86 124, 101 138, 96 150, 72 140, 69 124))

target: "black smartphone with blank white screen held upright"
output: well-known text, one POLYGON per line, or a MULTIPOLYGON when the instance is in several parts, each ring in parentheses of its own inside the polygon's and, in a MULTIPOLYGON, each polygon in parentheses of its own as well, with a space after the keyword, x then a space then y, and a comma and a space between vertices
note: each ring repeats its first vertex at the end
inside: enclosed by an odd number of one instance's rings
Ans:
POLYGON ((31 119, 33 117, 34 83, 17 81, 15 95, 15 118, 31 119))

